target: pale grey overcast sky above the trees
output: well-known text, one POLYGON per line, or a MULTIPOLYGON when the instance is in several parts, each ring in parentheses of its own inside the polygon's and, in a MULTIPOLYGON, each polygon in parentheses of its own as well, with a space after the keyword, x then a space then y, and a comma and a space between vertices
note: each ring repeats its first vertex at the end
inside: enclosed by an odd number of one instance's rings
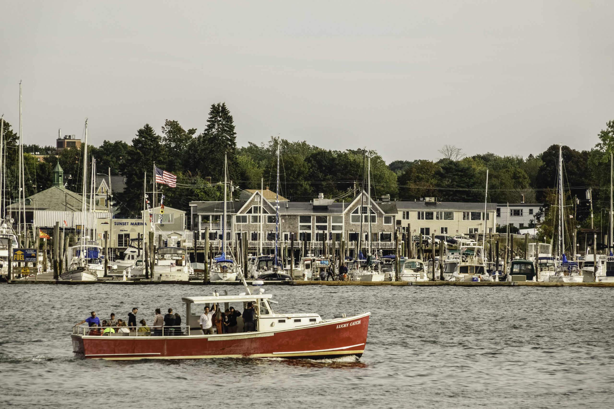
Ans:
POLYGON ((166 119, 237 143, 367 147, 387 162, 589 149, 614 120, 613 1, 4 1, 0 113, 25 143, 126 142, 166 119))

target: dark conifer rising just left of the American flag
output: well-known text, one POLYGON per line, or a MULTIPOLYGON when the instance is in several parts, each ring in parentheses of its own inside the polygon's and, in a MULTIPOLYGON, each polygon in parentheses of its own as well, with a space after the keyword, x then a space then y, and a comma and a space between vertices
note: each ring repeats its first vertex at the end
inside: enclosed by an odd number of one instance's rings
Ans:
MULTIPOLYGON (((117 195, 122 210, 138 215, 142 210, 143 177, 153 178, 153 164, 157 167, 166 165, 166 148, 162 140, 149 124, 136 132, 136 138, 128 148, 128 158, 122 166, 126 177, 126 189, 117 195)), ((149 183, 148 183, 149 185, 149 183)))

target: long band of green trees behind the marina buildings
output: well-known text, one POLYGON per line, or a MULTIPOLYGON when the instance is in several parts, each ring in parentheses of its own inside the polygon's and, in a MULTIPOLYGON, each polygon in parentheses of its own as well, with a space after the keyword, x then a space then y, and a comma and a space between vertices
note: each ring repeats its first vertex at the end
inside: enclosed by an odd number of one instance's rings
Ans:
MULTIPOLYGON (((7 145, 7 193, 17 197, 18 136, 9 123, 4 123, 7 145)), ((430 161, 394 161, 386 164, 375 150, 366 148, 344 151, 327 150, 306 141, 290 142, 271 137, 267 142, 248 142, 237 147, 233 117, 224 103, 212 104, 206 126, 184 128, 178 121, 166 120, 157 132, 145 124, 128 144, 121 140, 104 140, 99 147, 88 146, 96 159, 98 174, 123 175, 126 189, 115 196, 118 212, 137 215, 142 210, 143 178, 147 173, 147 191, 152 190, 153 164, 177 175, 177 188, 160 186, 165 204, 189 210, 190 201, 220 200, 224 160, 227 159, 228 180, 237 189, 258 189, 262 185, 274 189, 277 180, 277 150, 280 151, 280 194, 291 201, 309 201, 324 193, 325 197, 349 201, 356 191, 367 188, 367 158, 371 166, 371 195, 389 194, 392 199, 416 200, 437 197, 440 201, 483 202, 488 169, 488 202, 545 204, 538 221, 550 223, 553 218, 554 189, 558 169, 558 145, 551 145, 537 155, 499 156, 494 153, 464 155, 462 150, 446 145, 441 159, 430 161), (208 183, 211 178, 211 184, 208 183), (550 217, 550 219, 549 219, 550 217)), ((37 162, 25 153, 26 196, 52 185, 52 170, 57 162, 67 177, 67 188, 80 193, 82 180, 82 148, 66 148, 53 155, 55 148, 25 145, 24 151, 44 151, 49 155, 37 162)), ((609 208, 610 153, 614 151, 614 121, 599 133, 599 143, 590 150, 562 147, 566 200, 573 208, 575 221, 590 227, 589 201, 586 190, 592 188, 594 222, 599 225, 602 212, 609 208)), ((43 154, 45 155, 45 154, 43 154)), ((572 212, 572 210, 566 210, 572 212)), ((571 214, 571 213, 570 213, 571 214)), ((556 223, 552 224, 552 229, 556 223)), ((548 230, 550 231, 550 230, 548 230)), ((547 233, 547 232, 546 232, 547 233)))

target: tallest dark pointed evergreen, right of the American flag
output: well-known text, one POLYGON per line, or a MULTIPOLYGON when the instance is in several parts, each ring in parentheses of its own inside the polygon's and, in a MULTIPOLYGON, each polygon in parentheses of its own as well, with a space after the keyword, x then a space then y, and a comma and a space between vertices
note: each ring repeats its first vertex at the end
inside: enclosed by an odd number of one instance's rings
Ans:
POLYGON ((224 155, 228 159, 228 178, 238 176, 236 163, 235 123, 226 104, 212 104, 207 127, 192 140, 188 148, 186 168, 200 177, 223 180, 224 155))

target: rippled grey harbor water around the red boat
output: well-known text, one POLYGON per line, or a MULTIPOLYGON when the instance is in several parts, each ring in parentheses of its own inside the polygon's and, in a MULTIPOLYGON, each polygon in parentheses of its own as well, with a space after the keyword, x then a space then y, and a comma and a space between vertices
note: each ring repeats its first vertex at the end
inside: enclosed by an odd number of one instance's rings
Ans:
POLYGON ((0 407, 612 405, 608 288, 269 286, 279 312, 332 318, 370 311, 360 361, 106 362, 72 355, 71 327, 91 310, 127 319, 136 306, 139 319, 151 323, 155 308, 183 316, 181 296, 213 289, 0 285, 0 407))

